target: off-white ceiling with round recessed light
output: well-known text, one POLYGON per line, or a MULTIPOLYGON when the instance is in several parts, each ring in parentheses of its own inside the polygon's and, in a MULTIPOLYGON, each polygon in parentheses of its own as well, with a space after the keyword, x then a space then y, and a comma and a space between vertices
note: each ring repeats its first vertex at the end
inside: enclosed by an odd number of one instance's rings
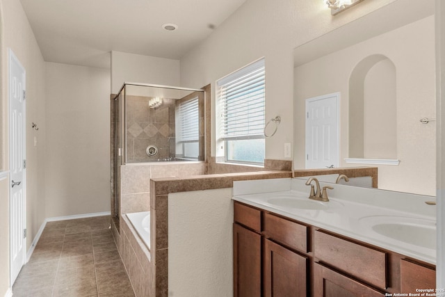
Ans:
POLYGON ((110 51, 179 59, 245 0, 20 0, 44 61, 110 67, 110 51), (175 31, 162 25, 172 23, 175 31))

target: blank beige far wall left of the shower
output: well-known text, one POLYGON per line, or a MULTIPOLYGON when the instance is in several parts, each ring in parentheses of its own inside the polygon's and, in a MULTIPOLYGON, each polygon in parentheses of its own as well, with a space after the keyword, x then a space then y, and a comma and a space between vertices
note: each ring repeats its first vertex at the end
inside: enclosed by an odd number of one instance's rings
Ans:
POLYGON ((110 72, 46 63, 46 216, 110 211, 110 72))

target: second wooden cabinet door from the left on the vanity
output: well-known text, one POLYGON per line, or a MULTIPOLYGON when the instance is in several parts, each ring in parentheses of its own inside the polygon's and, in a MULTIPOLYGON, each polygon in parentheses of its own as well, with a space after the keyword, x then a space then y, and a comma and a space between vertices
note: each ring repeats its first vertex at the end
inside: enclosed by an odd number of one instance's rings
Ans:
POLYGON ((264 241, 264 296, 307 295, 307 258, 266 239, 264 241))

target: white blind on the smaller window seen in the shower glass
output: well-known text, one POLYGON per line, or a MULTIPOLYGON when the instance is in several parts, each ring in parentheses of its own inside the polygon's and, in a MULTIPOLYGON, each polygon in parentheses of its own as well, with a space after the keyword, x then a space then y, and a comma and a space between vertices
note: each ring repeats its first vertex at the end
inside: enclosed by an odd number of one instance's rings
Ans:
POLYGON ((177 142, 199 141, 200 119, 198 110, 198 98, 181 102, 178 106, 179 129, 177 129, 177 142))

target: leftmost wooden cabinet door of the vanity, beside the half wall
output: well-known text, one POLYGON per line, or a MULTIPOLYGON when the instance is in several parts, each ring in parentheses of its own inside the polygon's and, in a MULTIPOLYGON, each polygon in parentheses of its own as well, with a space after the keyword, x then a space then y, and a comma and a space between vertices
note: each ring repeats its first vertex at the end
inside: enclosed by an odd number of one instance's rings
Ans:
POLYGON ((234 224, 234 297, 261 296, 261 235, 234 224))

